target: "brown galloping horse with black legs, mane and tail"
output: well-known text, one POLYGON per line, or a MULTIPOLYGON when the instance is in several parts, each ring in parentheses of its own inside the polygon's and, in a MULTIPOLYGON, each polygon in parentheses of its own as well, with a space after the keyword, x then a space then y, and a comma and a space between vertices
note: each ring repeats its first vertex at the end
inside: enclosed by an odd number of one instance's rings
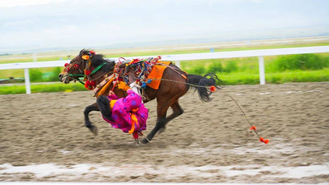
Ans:
MULTIPOLYGON (((70 76, 70 74, 83 74, 86 64, 88 63, 88 60, 83 59, 82 56, 89 54, 90 54, 89 50, 85 50, 85 49, 81 50, 79 55, 73 58, 70 61, 69 65, 67 66, 70 70, 64 69, 59 74, 59 80, 62 81, 63 83, 69 83, 70 81, 78 80, 77 78, 75 78, 75 76, 70 76), (73 68, 74 64, 78 64, 78 68, 73 68)), ((97 66, 103 64, 104 62, 106 62, 106 65, 104 65, 99 71, 97 71, 96 73, 90 76, 91 80, 94 80, 96 84, 99 84, 105 78, 113 74, 113 68, 115 62, 112 60, 105 59, 103 55, 94 55, 91 58, 91 66, 93 68, 96 68, 97 66)), ((169 66, 171 68, 179 69, 176 65, 172 63, 169 66)), ((171 68, 167 67, 164 70, 162 79, 185 82, 198 86, 211 86, 211 85, 216 86, 215 81, 216 80, 220 81, 218 77, 213 73, 209 73, 205 76, 190 75, 190 74, 188 75, 182 71, 178 71, 178 72, 174 71, 171 68), (187 79, 183 78, 181 74, 185 75, 187 79)), ((149 86, 147 86, 145 89, 145 93, 150 100, 157 99, 157 123, 155 127, 152 129, 152 131, 147 135, 148 140, 151 140, 160 129, 163 131, 165 125, 169 121, 183 114, 183 109, 179 105, 178 99, 182 97, 189 90, 190 85, 184 83, 172 82, 172 81, 161 81, 159 85, 159 89, 157 90, 149 86), (172 108, 173 113, 168 117, 166 117, 166 113, 169 107, 172 108)), ((216 87, 219 88, 218 86, 216 87)), ((113 88, 113 84, 111 84, 111 86, 107 89, 105 94, 108 94, 112 88, 113 88)), ((212 100, 210 98, 210 95, 212 93, 210 90, 204 87, 197 87, 197 86, 191 86, 191 88, 195 88, 195 91, 196 90, 198 91, 199 98, 201 99, 201 101, 210 102, 212 100)), ((119 98, 123 98, 126 96, 125 91, 117 89, 117 87, 114 88, 114 93, 119 98)), ((144 101, 144 103, 146 102, 147 101, 144 101)), ((96 135, 97 127, 92 125, 92 123, 89 121, 88 114, 90 111, 99 111, 96 103, 87 106, 84 111, 85 126, 88 127, 90 131, 96 135)), ((144 139, 142 142, 147 143, 148 141, 144 139)))

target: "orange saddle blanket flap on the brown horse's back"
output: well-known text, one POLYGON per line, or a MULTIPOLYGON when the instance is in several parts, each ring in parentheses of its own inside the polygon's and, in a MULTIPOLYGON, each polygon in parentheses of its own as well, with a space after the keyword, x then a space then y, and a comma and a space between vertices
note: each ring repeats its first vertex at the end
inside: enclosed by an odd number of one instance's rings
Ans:
MULTIPOLYGON (((169 65, 171 63, 171 61, 158 60, 157 63, 164 63, 166 65, 169 65)), ((147 79, 162 79, 162 75, 164 74, 165 68, 167 68, 167 66, 154 65, 150 74, 148 75, 147 79)), ((153 89, 159 89, 160 82, 161 82, 161 80, 152 80, 152 82, 146 83, 146 85, 153 89)))

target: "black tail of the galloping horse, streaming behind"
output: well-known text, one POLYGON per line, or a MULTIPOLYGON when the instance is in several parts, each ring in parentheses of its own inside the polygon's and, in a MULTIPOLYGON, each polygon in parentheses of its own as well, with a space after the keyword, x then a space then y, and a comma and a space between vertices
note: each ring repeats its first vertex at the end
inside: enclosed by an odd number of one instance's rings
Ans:
MULTIPOLYGON (((210 95, 212 94, 212 92, 209 90, 209 88, 205 88, 205 87, 199 87, 199 86, 215 86, 218 89, 221 89, 221 86, 217 86, 216 85, 216 80, 221 82, 221 80, 219 80, 219 78, 217 77, 217 75, 215 75, 215 73, 208 73, 205 76, 200 76, 200 75, 187 75, 187 83, 193 84, 193 85, 197 85, 197 86, 193 86, 191 85, 191 88, 195 89, 195 91, 198 91, 199 94, 199 98, 202 102, 210 102, 212 101, 212 98, 210 98, 210 95), (207 78, 210 77, 210 78, 207 78)), ((188 86, 188 88, 190 87, 190 85, 188 86)))

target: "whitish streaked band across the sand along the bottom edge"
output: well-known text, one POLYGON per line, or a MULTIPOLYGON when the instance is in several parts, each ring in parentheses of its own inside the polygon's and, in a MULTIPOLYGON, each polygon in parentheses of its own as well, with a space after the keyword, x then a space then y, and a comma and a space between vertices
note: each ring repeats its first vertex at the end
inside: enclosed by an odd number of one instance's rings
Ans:
POLYGON ((37 178, 53 175, 55 179, 74 179, 80 175, 110 175, 112 177, 119 175, 135 176, 150 174, 161 174, 165 178, 180 178, 186 175, 199 177, 211 177, 216 175, 226 175, 228 177, 235 175, 257 175, 262 171, 269 171, 269 174, 262 174, 261 178, 302 178, 313 175, 329 174, 329 163, 322 165, 285 167, 285 166, 214 166, 205 165, 201 167, 191 167, 187 165, 164 167, 152 165, 121 165, 104 166, 99 164, 78 164, 69 167, 55 164, 37 164, 29 166, 12 166, 10 164, 0 165, 0 176, 10 175, 10 173, 31 172, 37 178), (93 168, 92 168, 93 167, 93 168), (90 170, 90 169, 93 170, 90 170), (237 170, 238 169, 238 170, 237 170), (241 169, 241 170, 239 170, 241 169), (211 171, 213 170, 213 171, 211 171), (215 170, 215 171, 214 171, 215 170), (5 174, 4 174, 5 173, 5 174))

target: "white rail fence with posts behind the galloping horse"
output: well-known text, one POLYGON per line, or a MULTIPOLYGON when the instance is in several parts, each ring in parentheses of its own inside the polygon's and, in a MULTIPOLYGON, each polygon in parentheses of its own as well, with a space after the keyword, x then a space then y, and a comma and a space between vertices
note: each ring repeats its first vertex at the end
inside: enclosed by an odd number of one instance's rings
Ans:
MULTIPOLYGON (((259 79, 260 79, 259 81, 260 81, 260 84, 265 84, 264 56, 305 54, 305 53, 326 53, 326 52, 329 52, 329 46, 162 55, 162 58, 163 58, 163 60, 175 61, 176 64, 179 66, 179 61, 181 61, 181 60, 258 57, 259 79)), ((126 57, 126 59, 147 58, 147 57, 149 57, 149 56, 126 57)), ((117 58, 109 58, 109 59, 117 59, 117 58)), ((64 64, 68 63, 68 62, 69 62, 69 60, 8 63, 8 64, 0 64, 0 70, 2 70, 2 69, 24 69, 26 94, 31 94, 29 68, 64 66, 64 64)))

